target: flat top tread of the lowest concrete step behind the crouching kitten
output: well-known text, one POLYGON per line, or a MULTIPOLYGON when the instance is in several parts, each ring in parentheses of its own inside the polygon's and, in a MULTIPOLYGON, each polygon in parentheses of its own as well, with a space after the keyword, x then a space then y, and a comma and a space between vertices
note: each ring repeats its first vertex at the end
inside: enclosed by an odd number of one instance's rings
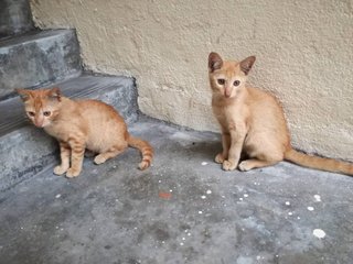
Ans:
MULTIPOLYGON (((93 76, 86 74, 50 87, 60 87, 63 95, 71 98, 89 98, 96 91, 122 87, 128 79, 130 78, 122 76, 93 76)), ((19 96, 1 101, 0 113, 0 136, 29 124, 19 96)))

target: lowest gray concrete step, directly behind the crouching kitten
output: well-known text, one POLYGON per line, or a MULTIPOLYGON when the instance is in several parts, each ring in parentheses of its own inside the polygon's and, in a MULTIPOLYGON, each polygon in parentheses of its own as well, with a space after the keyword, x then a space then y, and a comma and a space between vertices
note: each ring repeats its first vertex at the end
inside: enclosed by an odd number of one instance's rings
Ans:
MULTIPOLYGON (((137 89, 128 77, 84 75, 58 82, 63 95, 114 106, 127 123, 137 120, 137 89)), ((57 143, 25 118, 19 97, 0 102, 0 190, 35 175, 57 160, 57 143)))

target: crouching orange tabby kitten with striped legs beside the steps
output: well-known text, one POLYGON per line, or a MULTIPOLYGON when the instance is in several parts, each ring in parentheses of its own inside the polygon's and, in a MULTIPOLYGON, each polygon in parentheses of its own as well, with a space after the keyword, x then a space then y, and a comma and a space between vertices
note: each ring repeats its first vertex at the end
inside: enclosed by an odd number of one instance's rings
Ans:
POLYGON ((17 89, 17 92, 30 120, 60 143, 61 165, 54 168, 54 174, 78 176, 85 148, 98 153, 94 162, 101 164, 130 145, 141 151, 139 168, 150 166, 152 147, 129 134, 124 119, 113 107, 98 100, 71 100, 63 97, 58 88, 17 89))

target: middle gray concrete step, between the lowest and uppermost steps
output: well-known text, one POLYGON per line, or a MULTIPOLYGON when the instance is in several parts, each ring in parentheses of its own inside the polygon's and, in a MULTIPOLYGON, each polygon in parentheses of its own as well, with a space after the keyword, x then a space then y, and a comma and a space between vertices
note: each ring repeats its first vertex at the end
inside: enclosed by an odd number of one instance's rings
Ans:
POLYGON ((32 31, 0 41, 0 99, 82 72, 75 30, 32 31))

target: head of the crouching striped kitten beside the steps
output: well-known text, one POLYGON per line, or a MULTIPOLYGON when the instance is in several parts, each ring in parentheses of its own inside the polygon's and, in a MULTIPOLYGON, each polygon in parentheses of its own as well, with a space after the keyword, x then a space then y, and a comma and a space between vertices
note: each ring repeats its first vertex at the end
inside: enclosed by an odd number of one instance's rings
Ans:
POLYGON ((61 94, 58 88, 43 90, 15 90, 24 102, 25 113, 38 128, 50 125, 58 113, 61 94))

